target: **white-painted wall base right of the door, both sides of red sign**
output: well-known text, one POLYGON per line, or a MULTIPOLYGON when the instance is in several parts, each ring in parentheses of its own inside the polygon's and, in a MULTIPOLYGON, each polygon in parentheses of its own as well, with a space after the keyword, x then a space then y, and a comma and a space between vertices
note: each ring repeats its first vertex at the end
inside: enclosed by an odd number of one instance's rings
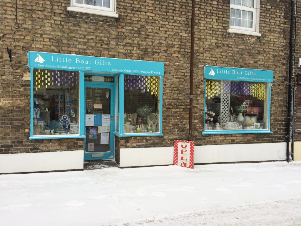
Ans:
MULTIPOLYGON (((173 165, 174 147, 120 149, 120 167, 173 165)), ((286 143, 194 147, 194 164, 286 160, 286 143)))

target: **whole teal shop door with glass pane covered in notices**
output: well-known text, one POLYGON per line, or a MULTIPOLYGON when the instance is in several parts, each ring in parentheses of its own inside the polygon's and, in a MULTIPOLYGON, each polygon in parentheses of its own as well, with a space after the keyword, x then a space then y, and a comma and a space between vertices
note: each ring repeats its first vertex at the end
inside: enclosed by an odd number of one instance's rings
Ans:
POLYGON ((114 86, 85 83, 84 160, 114 158, 114 86))

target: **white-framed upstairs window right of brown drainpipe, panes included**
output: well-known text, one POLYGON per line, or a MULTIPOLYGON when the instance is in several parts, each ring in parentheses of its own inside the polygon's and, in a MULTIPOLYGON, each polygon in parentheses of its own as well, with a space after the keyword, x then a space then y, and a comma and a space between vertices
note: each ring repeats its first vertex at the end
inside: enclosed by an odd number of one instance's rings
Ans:
POLYGON ((259 0, 230 0, 228 32, 261 36, 259 34, 259 3, 259 0))

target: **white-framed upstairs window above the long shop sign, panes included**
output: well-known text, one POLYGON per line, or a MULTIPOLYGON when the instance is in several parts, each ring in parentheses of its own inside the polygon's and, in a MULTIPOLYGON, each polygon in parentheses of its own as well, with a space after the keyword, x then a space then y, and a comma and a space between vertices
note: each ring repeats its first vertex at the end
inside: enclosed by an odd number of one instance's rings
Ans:
POLYGON ((116 14, 116 0, 71 0, 70 7, 67 10, 118 17, 118 14, 116 14))

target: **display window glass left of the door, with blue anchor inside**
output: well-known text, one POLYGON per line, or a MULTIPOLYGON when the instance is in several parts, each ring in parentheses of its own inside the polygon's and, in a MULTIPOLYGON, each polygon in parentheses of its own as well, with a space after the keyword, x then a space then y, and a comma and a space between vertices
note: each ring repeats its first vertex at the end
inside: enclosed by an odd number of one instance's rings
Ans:
POLYGON ((79 134, 78 71, 33 69, 32 89, 31 137, 79 134))

